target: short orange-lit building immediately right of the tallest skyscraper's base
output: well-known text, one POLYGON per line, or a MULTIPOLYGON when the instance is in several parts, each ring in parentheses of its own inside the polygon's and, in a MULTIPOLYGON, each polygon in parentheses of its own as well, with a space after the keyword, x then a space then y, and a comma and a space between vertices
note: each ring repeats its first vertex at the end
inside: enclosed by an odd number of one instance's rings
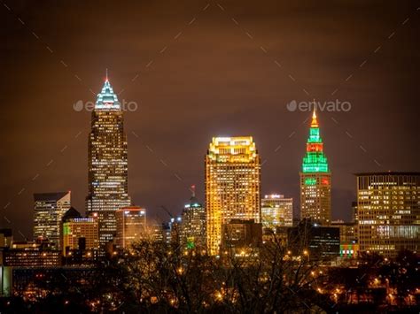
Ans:
POLYGON ((128 249, 146 234, 146 210, 137 206, 124 207, 116 211, 117 248, 128 249))

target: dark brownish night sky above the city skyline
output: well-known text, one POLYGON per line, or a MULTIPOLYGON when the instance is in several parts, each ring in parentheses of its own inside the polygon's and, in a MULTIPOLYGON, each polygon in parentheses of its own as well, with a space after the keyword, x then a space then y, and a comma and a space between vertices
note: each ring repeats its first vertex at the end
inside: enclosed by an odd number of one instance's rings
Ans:
POLYGON ((420 171, 419 6, 2 1, 2 226, 31 238, 37 192, 71 190, 84 212, 90 112, 74 103, 96 100, 106 68, 121 102, 138 104, 125 113, 128 189, 149 217, 180 213, 192 184, 204 202, 216 135, 253 135, 262 195, 292 196, 297 214, 310 112, 286 104, 315 98, 352 106, 318 114, 332 216, 349 219, 354 172, 420 171))

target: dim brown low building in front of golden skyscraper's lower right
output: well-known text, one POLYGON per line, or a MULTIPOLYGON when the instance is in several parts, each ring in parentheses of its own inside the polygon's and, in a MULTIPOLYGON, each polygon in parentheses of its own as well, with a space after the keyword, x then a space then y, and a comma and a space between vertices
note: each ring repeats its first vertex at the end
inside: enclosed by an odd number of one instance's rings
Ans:
POLYGON ((222 225, 222 252, 244 255, 246 249, 259 248, 262 243, 262 225, 253 220, 232 219, 222 225), (243 253, 244 252, 244 253, 243 253))

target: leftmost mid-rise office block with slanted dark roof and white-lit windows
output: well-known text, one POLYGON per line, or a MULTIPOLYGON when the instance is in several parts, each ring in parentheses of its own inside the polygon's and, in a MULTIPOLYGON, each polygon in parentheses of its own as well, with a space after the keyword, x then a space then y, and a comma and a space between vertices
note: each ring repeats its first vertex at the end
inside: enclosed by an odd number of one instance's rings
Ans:
POLYGON ((34 239, 48 239, 59 248, 61 220, 70 208, 71 193, 37 193, 34 201, 34 239))

